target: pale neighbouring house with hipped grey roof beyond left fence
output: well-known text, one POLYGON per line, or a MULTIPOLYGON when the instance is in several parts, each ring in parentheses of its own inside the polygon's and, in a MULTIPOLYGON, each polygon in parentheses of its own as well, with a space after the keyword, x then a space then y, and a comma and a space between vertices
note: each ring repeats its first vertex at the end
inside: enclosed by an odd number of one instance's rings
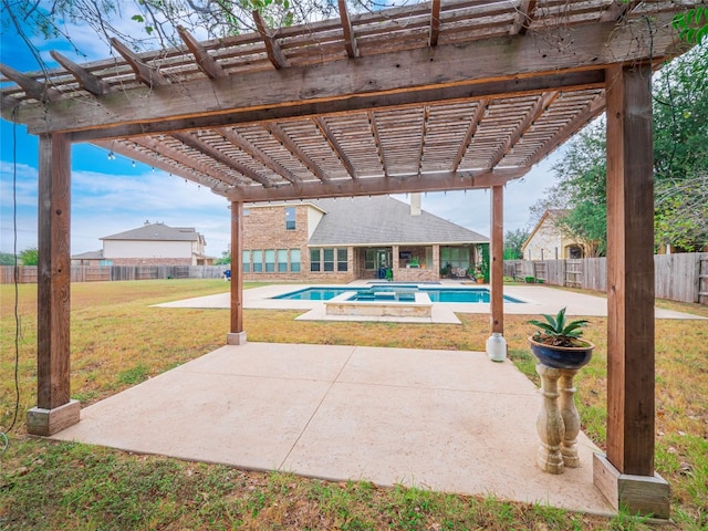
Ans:
POLYGON ((79 266, 211 266, 207 242, 192 227, 145 221, 143 227, 101 238, 103 250, 72 257, 79 266))

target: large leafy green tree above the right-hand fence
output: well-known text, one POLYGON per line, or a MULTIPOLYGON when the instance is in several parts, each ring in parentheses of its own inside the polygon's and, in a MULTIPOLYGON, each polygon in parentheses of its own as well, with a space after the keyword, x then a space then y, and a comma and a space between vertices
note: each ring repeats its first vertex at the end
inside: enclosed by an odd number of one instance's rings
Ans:
MULTIPOLYGON (((653 93, 656 243, 695 250, 708 243, 708 42, 665 65, 653 93)), ((606 249, 605 164, 598 119, 569 143, 553 166, 556 184, 531 209, 570 209, 559 227, 587 256, 606 249)))

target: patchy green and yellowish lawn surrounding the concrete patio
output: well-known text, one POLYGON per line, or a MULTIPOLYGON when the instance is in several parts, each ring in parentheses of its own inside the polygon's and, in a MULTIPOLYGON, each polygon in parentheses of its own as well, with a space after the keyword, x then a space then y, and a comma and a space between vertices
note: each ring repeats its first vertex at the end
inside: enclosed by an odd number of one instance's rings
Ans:
MULTIPOLYGON (((14 412, 14 287, 0 287, 0 427, 14 412)), ((221 346, 228 311, 150 308, 220 293, 220 280, 72 285, 72 396, 84 405, 221 346)), ((19 287, 19 423, 0 455, 0 529, 649 529, 627 514, 606 520, 511 503, 367 482, 326 482, 285 473, 138 456, 24 435, 35 405, 37 287, 19 287)), ((708 316, 708 309, 663 308, 708 316)), ((416 348, 483 350, 487 315, 462 325, 294 322, 299 312, 247 310, 249 340, 416 348)), ((506 316, 510 356, 538 382, 525 346, 528 316, 506 316)), ((590 317, 596 345, 576 378, 583 429, 605 437, 606 319, 590 317)), ((671 483, 675 529, 708 527, 708 324, 656 326, 657 471, 671 483)), ((0 446, 0 449, 2 447, 0 446)))

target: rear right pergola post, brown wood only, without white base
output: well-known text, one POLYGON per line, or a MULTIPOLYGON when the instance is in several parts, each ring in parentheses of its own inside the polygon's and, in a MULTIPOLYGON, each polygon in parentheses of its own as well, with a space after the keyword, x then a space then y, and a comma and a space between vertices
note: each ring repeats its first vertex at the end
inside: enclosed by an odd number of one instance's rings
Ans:
POLYGON ((504 233, 503 187, 491 187, 491 243, 489 246, 491 332, 504 333, 504 233))

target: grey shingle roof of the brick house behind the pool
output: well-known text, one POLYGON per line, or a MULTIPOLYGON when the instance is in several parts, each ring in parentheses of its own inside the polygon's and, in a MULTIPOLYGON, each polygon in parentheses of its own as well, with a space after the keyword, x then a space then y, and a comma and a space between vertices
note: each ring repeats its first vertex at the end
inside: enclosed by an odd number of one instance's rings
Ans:
POLYGON ((482 243, 489 238, 410 207, 387 196, 312 201, 327 214, 310 238, 310 246, 373 246, 417 243, 482 243))

